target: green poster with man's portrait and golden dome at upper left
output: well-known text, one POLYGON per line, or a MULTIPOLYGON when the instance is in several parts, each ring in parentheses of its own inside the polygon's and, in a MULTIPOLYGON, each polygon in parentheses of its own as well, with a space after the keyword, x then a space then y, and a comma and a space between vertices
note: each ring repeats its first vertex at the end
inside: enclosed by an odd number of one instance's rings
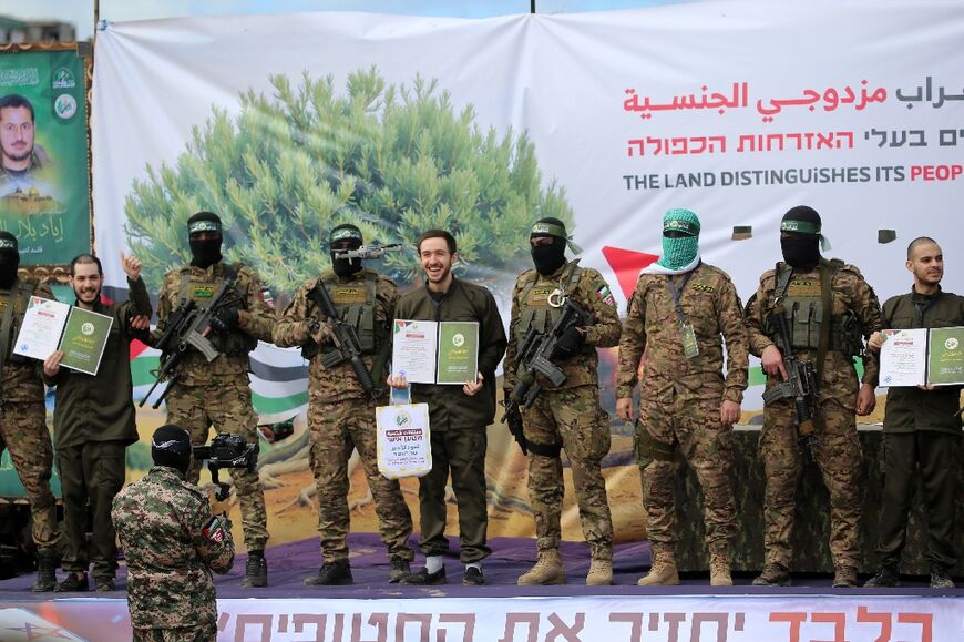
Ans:
POLYGON ((0 230, 20 264, 91 248, 84 64, 74 49, 0 54, 0 230))

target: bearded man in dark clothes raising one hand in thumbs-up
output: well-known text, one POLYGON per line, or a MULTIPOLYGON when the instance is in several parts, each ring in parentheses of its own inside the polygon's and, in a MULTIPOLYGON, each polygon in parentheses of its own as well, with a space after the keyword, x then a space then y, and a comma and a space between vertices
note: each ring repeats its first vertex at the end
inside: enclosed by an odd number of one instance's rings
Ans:
POLYGON ((101 302, 101 261, 81 254, 70 263, 74 305, 113 318, 96 375, 60 366, 63 350, 43 363, 43 380, 57 386, 53 442, 63 492, 63 532, 66 554, 61 568, 69 574, 58 592, 86 591, 88 567, 93 563, 94 588, 114 590, 117 546, 111 524, 111 502, 124 486, 124 449, 137 441, 134 387, 131 383, 131 340, 146 338, 151 327, 151 298, 141 279, 141 262, 121 253, 127 275, 126 303, 101 302), (86 541, 88 501, 93 537, 86 541))

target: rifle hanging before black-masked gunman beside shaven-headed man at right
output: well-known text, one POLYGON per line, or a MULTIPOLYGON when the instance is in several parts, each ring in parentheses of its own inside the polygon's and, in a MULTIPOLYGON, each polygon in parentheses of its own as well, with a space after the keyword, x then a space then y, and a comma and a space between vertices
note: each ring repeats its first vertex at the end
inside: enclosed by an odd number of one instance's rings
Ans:
POLYGON ((787 370, 787 380, 771 387, 763 393, 763 405, 769 406, 778 399, 793 398, 797 407, 797 436, 800 449, 803 452, 803 461, 814 461, 813 456, 813 415, 817 409, 817 370, 811 361, 801 361, 793 354, 793 344, 790 340, 790 329, 783 317, 782 308, 777 308, 769 315, 770 328, 776 330, 776 344, 783 356, 783 368, 787 370))

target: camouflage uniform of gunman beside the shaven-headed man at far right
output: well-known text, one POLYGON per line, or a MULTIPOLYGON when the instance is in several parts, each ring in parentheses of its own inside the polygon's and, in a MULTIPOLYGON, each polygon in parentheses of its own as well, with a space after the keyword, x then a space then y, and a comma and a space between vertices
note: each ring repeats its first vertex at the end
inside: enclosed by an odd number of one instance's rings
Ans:
MULTIPOLYGON (((768 269, 760 277, 756 294, 747 302, 746 318, 749 330, 750 351, 760 356, 773 345, 767 317, 773 306, 777 269, 768 269)), ((822 268, 793 271, 787 285, 787 298, 821 297, 820 269, 830 269, 832 324, 844 318, 845 313, 855 315, 859 333, 864 338, 881 329, 881 309, 876 295, 860 271, 841 262, 821 259, 822 268)), ((792 330, 791 330, 792 332, 792 330)), ((816 330, 814 330, 816 332, 816 330)), ((834 332, 830 330, 831 335, 834 332)), ((835 336, 835 335, 834 335, 835 336)), ((812 439, 813 454, 830 492, 830 551, 834 568, 860 567, 860 517, 862 451, 857 437, 857 395, 859 381, 853 365, 853 349, 839 349, 840 339, 832 338, 827 350, 822 374, 818 374, 819 407, 814 412, 816 432, 812 439), (851 354, 845 354, 851 353, 851 354)), ((817 361, 817 349, 794 348, 801 361, 817 361)), ((873 386, 878 380, 878 360, 870 353, 863 357, 863 380, 873 386)), ((778 385, 779 377, 767 377, 767 388, 778 385)), ((765 558, 767 564, 790 568, 793 551, 790 532, 793 528, 797 485, 802 471, 802 457, 794 426, 797 411, 792 398, 771 402, 763 410, 763 430, 760 436, 760 457, 767 476, 763 521, 765 558)))

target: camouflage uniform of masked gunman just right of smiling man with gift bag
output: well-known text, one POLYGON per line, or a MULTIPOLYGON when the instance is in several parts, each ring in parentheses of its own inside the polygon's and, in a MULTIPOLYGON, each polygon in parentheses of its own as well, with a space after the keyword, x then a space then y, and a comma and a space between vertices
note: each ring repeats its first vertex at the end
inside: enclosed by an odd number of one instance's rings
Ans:
MULTIPOLYGON (((527 325, 539 325, 551 310, 548 297, 556 288, 572 297, 592 318, 578 324, 586 329, 586 340, 578 353, 556 364, 566 375, 562 386, 556 388, 542 375, 537 376, 536 384, 543 389, 522 415, 525 439, 537 445, 561 445, 565 449, 573 471, 583 537, 593 559, 612 560, 613 520, 602 471, 603 457, 609 452, 609 416, 599 406, 596 348, 615 346, 621 328, 615 300, 597 271, 570 262, 551 276, 542 276, 535 269, 519 276, 512 293, 511 339, 505 351, 506 397, 515 387, 521 365, 519 348, 529 330, 522 319, 531 316, 533 320, 527 325)), ((543 320, 545 325, 550 324, 543 320)), ((537 332, 548 329, 551 325, 537 332)), ((530 451, 529 495, 540 551, 558 548, 564 491, 560 457, 530 451)))

